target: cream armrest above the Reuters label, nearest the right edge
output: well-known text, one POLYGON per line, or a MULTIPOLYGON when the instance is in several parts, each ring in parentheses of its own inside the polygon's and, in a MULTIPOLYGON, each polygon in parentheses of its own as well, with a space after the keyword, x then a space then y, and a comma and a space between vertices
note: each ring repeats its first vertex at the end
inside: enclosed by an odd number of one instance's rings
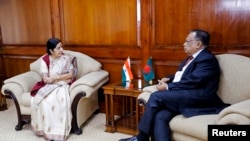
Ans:
POLYGON ((217 118, 217 124, 250 124, 250 99, 235 103, 223 109, 217 118))

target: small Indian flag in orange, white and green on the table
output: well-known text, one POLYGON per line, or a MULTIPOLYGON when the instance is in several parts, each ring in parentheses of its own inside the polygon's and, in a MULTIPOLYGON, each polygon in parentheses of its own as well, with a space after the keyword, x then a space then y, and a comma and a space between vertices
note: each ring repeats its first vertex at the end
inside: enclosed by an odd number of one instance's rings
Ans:
POLYGON ((122 67, 122 81, 131 81, 133 80, 133 73, 130 67, 130 58, 128 57, 122 67))

